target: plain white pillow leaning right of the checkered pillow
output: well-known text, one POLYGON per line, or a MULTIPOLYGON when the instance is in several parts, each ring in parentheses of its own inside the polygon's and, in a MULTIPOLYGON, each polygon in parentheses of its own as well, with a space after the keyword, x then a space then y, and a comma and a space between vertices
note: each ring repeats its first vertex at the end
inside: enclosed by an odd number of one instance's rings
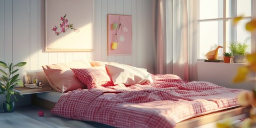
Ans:
POLYGON ((153 82, 151 74, 140 68, 123 64, 106 65, 105 67, 115 85, 119 83, 134 85, 153 82))

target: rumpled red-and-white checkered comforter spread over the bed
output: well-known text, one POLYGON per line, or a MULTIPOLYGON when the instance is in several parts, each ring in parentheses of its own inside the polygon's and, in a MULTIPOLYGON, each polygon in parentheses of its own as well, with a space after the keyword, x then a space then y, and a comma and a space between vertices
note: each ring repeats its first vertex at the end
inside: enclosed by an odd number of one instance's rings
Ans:
POLYGON ((176 75, 153 75, 154 83, 74 90, 62 95, 51 113, 116 127, 174 127, 193 115, 237 105, 242 90, 209 82, 186 82, 176 75))

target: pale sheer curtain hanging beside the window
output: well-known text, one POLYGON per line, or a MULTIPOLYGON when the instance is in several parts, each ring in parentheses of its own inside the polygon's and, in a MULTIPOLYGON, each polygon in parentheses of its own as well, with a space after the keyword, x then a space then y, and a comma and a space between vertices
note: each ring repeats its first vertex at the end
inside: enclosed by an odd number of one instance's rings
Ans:
POLYGON ((156 74, 197 80, 197 7, 191 0, 156 0, 156 74))

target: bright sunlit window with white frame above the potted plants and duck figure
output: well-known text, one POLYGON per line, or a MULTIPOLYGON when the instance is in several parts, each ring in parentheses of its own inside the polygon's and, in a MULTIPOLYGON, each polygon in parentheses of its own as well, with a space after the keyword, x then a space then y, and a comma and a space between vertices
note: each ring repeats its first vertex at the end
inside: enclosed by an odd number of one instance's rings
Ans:
MULTIPOLYGON (((229 42, 243 43, 251 33, 245 30, 245 23, 251 20, 253 0, 198 0, 198 59, 205 59, 205 54, 217 47, 219 56, 229 51, 229 42), (232 25, 235 17, 243 15, 236 26, 232 25)), ((251 52, 251 38, 247 41, 251 52)))

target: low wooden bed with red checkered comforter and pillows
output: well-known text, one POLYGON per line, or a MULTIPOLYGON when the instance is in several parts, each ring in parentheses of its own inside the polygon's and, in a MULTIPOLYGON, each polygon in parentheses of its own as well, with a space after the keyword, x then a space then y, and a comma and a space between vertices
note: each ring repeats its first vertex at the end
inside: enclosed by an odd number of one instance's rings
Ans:
MULTIPOLYGON (((38 94, 33 103, 47 105, 58 116, 114 127, 206 127, 221 119, 239 121, 249 116, 250 108, 239 106, 236 98, 245 90, 183 81, 171 74, 145 75, 143 69, 122 66, 70 68, 88 89, 38 94), (122 82, 124 78, 118 76, 132 78, 127 72, 140 78, 122 82)), ((51 83, 50 76, 46 78, 51 83)))

